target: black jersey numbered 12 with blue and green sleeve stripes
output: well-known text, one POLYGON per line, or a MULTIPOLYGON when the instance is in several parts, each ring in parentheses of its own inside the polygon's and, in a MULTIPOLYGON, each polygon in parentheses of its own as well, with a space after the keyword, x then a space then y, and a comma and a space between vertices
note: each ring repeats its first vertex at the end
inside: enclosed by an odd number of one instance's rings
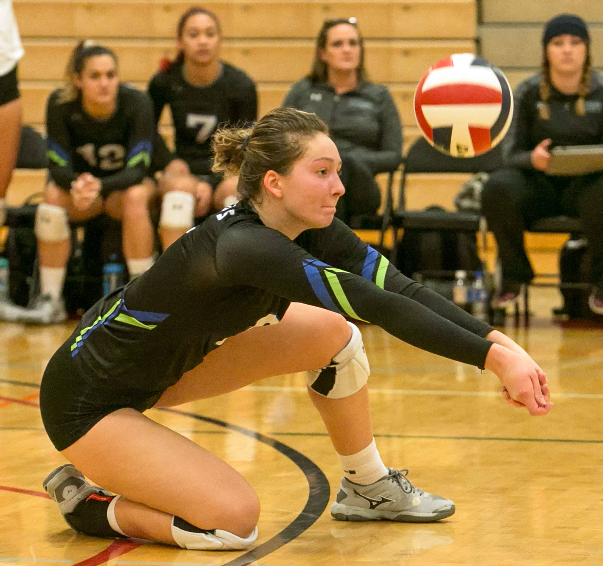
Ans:
POLYGON ((101 180, 101 195, 140 183, 151 163, 153 106, 146 93, 120 84, 115 113, 106 121, 89 116, 81 96, 59 102, 60 90, 48 97, 46 129, 52 180, 62 189, 89 172, 101 180))

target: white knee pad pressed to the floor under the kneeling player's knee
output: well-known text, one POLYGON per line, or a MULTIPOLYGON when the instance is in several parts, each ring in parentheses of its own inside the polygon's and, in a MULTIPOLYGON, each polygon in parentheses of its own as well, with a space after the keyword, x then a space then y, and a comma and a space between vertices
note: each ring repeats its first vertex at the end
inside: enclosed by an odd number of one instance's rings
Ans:
POLYGON ((257 538, 257 527, 247 538, 233 535, 227 530, 197 529, 180 517, 172 517, 172 538, 181 548, 187 550, 245 550, 257 538))

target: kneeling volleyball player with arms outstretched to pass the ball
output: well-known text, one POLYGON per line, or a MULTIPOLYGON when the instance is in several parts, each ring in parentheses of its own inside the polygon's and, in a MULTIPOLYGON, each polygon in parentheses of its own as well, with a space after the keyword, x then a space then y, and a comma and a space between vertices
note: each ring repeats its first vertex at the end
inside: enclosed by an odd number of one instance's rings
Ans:
POLYGON ((218 131, 213 147, 215 170, 239 176, 241 202, 93 306, 46 367, 43 423, 74 465, 53 471, 44 488, 79 532, 246 549, 257 536, 253 488, 141 413, 305 371, 345 474, 333 517, 449 517, 452 501, 381 461, 362 336, 342 315, 491 369, 507 400, 532 415, 551 407, 545 374, 510 338, 400 274, 333 219, 341 159, 314 114, 273 110, 253 130, 218 131))

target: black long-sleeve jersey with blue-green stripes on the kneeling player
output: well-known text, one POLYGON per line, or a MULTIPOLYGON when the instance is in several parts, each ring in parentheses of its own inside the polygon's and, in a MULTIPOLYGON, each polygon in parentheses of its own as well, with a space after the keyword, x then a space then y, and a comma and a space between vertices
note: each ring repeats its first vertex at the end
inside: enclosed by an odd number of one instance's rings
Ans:
POLYGON ((95 383, 154 393, 229 336, 280 320, 291 301, 481 368, 491 345, 489 325, 400 274, 343 222, 291 241, 245 202, 189 230, 151 269, 98 301, 68 345, 95 383))

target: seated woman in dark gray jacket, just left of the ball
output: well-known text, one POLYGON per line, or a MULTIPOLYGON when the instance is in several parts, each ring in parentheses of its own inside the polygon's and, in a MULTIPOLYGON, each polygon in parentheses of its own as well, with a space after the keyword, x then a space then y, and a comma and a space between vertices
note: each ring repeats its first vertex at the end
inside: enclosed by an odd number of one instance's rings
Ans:
POLYGON ((283 106, 314 112, 329 126, 346 187, 337 216, 349 222, 376 212, 380 191, 374 175, 400 165, 402 124, 387 87, 367 80, 355 19, 324 21, 312 71, 291 87, 283 106))

